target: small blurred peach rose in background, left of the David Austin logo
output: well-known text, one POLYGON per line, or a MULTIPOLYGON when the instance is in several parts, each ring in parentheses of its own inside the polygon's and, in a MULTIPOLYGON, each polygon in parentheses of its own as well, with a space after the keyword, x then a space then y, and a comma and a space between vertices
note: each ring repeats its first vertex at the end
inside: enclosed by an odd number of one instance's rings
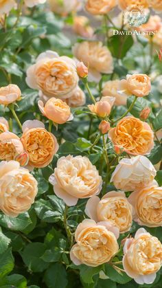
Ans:
POLYGON ((94 30, 89 25, 89 19, 86 16, 74 16, 73 31, 84 38, 92 38, 94 30))

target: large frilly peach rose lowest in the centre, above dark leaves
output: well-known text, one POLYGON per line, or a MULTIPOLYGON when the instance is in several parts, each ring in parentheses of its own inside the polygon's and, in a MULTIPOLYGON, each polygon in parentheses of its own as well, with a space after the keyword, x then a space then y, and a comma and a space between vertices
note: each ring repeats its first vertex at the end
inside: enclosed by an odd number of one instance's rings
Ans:
POLYGON ((76 244, 70 252, 71 261, 75 265, 85 264, 91 267, 107 263, 119 250, 118 236, 117 228, 108 223, 84 219, 76 229, 76 244))

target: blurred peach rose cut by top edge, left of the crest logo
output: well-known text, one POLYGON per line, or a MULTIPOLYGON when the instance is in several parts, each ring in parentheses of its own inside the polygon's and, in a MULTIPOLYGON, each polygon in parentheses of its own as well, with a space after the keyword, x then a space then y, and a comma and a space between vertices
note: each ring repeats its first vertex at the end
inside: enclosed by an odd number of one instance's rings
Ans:
POLYGON ((86 11, 93 15, 103 15, 110 12, 115 5, 116 0, 86 0, 86 11))

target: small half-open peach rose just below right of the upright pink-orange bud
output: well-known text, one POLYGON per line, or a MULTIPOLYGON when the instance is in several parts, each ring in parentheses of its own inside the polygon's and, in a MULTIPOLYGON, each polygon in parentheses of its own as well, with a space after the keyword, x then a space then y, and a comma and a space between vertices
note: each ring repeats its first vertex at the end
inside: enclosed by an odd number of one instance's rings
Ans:
POLYGON ((115 102, 114 97, 102 97, 100 101, 95 104, 88 105, 89 110, 99 117, 107 117, 111 113, 111 108, 115 102))

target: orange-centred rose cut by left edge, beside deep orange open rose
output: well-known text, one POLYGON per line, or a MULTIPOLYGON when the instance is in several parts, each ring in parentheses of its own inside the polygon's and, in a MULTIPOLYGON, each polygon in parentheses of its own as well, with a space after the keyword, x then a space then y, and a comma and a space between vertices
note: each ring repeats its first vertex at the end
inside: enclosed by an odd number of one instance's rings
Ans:
POLYGON ((9 131, 0 134, 0 160, 14 160, 23 150, 23 144, 16 134, 9 131))

